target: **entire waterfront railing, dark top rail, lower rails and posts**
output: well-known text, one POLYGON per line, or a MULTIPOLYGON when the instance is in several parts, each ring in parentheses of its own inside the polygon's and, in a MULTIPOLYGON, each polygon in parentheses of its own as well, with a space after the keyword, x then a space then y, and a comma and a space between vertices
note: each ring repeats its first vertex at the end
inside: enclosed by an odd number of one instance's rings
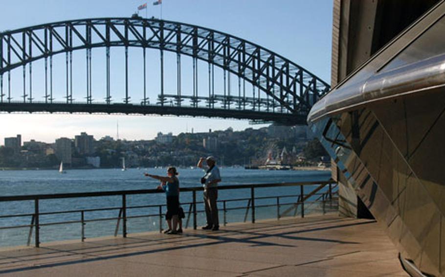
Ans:
MULTIPOLYGON (((238 184, 238 185, 223 185, 223 186, 219 186, 220 190, 228 190, 228 189, 250 189, 250 198, 244 198, 245 200, 248 199, 248 204, 246 209, 246 213, 245 213, 245 220, 247 219, 248 216, 248 212, 250 209, 251 212, 251 221, 252 223, 255 223, 255 206, 257 206, 257 208, 260 207, 271 207, 274 205, 271 204, 266 204, 266 205, 255 205, 255 199, 256 200, 260 200, 260 199, 267 199, 267 198, 276 198, 277 199, 277 203, 276 203, 276 207, 277 207, 277 219, 279 219, 280 217, 282 217, 283 215, 285 215, 288 211, 286 211, 285 213, 283 213, 282 215, 280 215, 280 206, 282 205, 286 205, 288 203, 281 203, 280 204, 280 198, 286 198, 286 197, 290 197, 289 195, 285 195, 285 196, 274 196, 274 197, 260 197, 260 198, 255 198, 255 188, 266 188, 266 187, 285 187, 285 186, 299 186, 300 187, 300 194, 298 195, 298 200, 296 203, 293 203, 293 207, 295 208, 295 213, 294 216, 296 214, 296 208, 298 207, 298 205, 301 205, 301 217, 304 217, 304 203, 308 202, 307 200, 312 197, 312 196, 316 196, 317 192, 320 191, 322 188, 324 188, 326 185, 329 185, 329 195, 331 196, 332 194, 332 187, 331 184, 335 184, 335 181, 333 179, 329 179, 326 181, 304 181, 304 182, 282 182, 282 183, 263 183, 263 184, 238 184), (316 188, 314 188, 312 190, 312 192, 310 192, 308 195, 304 195, 304 186, 307 185, 317 185, 316 188)), ((202 186, 199 187, 189 187, 189 188, 181 188, 180 191, 181 192, 192 192, 192 198, 193 201, 190 202, 190 208, 188 211, 188 218, 187 218, 187 223, 186 223, 186 227, 188 226, 189 223, 189 219, 190 216, 193 214, 193 229, 197 229, 197 212, 199 212, 197 210, 196 204, 198 203, 198 201, 196 200, 196 192, 197 191, 202 191, 204 188, 202 186)), ((89 193, 66 193, 66 194, 44 194, 44 195, 25 195, 25 196, 3 196, 0 197, 0 202, 1 201, 23 201, 23 200, 34 200, 34 214, 25 214, 25 215, 5 215, 5 216, 1 216, 0 218, 8 218, 8 217, 22 217, 22 216, 31 216, 31 223, 29 225, 16 225, 16 226, 5 226, 5 227, 0 227, 0 230, 3 229, 15 229, 15 228, 23 228, 23 227, 30 227, 29 229, 29 234, 28 234, 28 240, 27 240, 27 245, 30 245, 31 243, 31 236, 33 234, 33 229, 34 229, 34 235, 35 235, 35 247, 40 247, 40 228, 41 226, 49 226, 49 225, 60 225, 60 224, 72 224, 72 223, 81 223, 81 239, 82 241, 85 240, 85 225, 87 224, 87 222, 93 222, 93 221, 104 221, 104 220, 116 220, 117 219, 117 223, 116 223, 116 227, 115 227, 115 231, 114 231, 114 236, 117 236, 118 230, 119 230, 119 226, 120 226, 120 222, 122 222, 122 236, 123 237, 127 237, 127 220, 129 218, 142 218, 142 217, 154 217, 154 216, 158 216, 159 217, 159 232, 162 231, 162 207, 165 206, 165 204, 159 204, 156 205, 159 208, 159 213, 158 214, 153 214, 153 215, 134 215, 134 216, 127 216, 127 210, 128 209, 132 209, 132 208, 137 208, 137 207, 144 207, 144 205, 142 206, 127 206, 127 195, 138 195, 138 194, 150 194, 150 193, 163 193, 160 190, 157 189, 149 189, 149 190, 124 190, 124 191, 105 191, 105 192, 89 192, 89 193), (39 202, 41 199, 57 199, 57 198, 86 198, 86 197, 104 197, 104 196, 121 196, 122 197, 122 206, 121 207, 116 207, 116 208, 99 208, 99 209, 87 209, 87 210, 69 210, 69 211, 56 211, 56 212, 45 212, 45 213, 40 213, 39 211, 39 202), (86 211, 99 211, 99 210, 119 210, 119 215, 116 217, 112 217, 112 218, 93 218, 93 219, 85 219, 85 212, 86 211), (62 222, 48 222, 48 223, 40 223, 40 217, 44 216, 44 215, 51 215, 51 214, 65 214, 65 213, 81 213, 81 219, 80 220, 69 220, 69 221, 62 221, 62 222), (122 220, 122 221, 121 221, 122 220)), ((243 209, 244 207, 231 207, 231 208, 227 208, 226 207, 226 202, 230 201, 231 199, 226 199, 226 200, 220 200, 219 202, 223 202, 223 215, 224 215, 224 220, 223 223, 224 225, 226 224, 226 212, 227 210, 232 210, 232 209, 243 209)), ((325 205, 325 198, 323 197, 323 213, 324 213, 324 205, 325 205)), ((317 201, 317 200, 315 200, 317 201)), ((311 202, 310 202, 311 203, 311 202)), ((289 203, 292 204, 292 203, 289 203)), ((152 205, 151 205, 152 206, 152 205)), ((288 209, 289 210, 289 209, 288 209)))

